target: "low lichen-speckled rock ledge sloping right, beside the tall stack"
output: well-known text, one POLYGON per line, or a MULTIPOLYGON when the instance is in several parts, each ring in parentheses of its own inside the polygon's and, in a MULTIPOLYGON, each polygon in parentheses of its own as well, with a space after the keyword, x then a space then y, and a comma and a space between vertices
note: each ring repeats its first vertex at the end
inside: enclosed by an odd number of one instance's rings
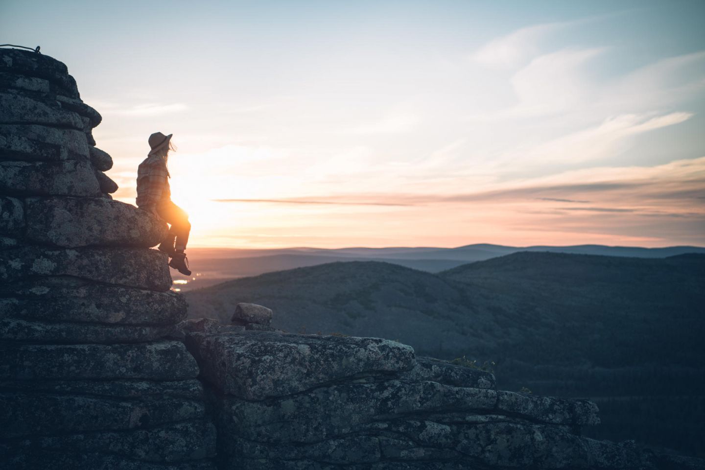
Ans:
POLYGON ((639 469, 653 454, 580 435, 587 400, 496 390, 486 371, 378 338, 189 333, 223 468, 639 469))

